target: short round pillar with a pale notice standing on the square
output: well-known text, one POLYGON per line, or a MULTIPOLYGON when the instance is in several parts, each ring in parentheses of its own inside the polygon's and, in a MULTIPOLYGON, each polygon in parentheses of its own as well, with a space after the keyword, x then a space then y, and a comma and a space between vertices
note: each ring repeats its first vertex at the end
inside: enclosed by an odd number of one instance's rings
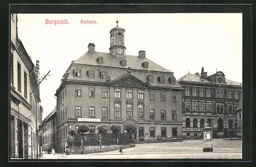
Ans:
POLYGON ((212 130, 214 128, 209 127, 203 128, 203 135, 204 135, 204 147, 203 147, 203 152, 212 152, 212 130))

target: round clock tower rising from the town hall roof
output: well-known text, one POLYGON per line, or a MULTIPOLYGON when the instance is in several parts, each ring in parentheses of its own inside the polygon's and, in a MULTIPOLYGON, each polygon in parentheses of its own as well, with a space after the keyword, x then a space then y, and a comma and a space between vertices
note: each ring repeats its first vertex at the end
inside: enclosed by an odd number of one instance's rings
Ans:
POLYGON ((110 54, 116 58, 125 58, 124 32, 125 30, 117 26, 110 31, 110 54))

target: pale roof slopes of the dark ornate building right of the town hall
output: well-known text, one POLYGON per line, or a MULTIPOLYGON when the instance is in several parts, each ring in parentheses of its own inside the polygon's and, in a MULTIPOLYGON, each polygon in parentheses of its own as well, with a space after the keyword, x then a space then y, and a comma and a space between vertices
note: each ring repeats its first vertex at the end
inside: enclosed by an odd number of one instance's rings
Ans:
MULTIPOLYGON (((201 75, 196 75, 196 74, 187 74, 180 79, 178 79, 178 82, 181 81, 188 81, 188 82, 201 82, 201 83, 212 83, 211 81, 207 79, 201 78, 201 75)), ((225 79, 225 82, 227 85, 237 85, 237 86, 242 86, 242 83, 236 82, 236 81, 231 81, 228 79, 225 79)))

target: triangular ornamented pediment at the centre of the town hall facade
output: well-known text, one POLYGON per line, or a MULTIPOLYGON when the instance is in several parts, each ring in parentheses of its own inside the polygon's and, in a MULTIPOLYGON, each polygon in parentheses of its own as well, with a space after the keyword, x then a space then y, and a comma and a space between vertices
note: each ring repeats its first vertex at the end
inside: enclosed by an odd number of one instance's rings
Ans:
POLYGON ((119 80, 116 80, 112 82, 110 85, 112 86, 123 86, 123 87, 149 87, 147 83, 139 80, 138 78, 129 75, 124 78, 120 78, 119 80))

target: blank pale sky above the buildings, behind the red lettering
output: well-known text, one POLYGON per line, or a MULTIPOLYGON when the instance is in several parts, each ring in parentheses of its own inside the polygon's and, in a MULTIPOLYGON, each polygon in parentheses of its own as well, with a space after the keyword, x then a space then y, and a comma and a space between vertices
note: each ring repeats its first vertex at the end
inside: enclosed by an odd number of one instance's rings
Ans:
POLYGON ((225 77, 242 83, 242 13, 159 13, 159 14, 18 14, 18 37, 40 76, 42 119, 55 106, 54 94, 73 60, 95 43, 96 52, 109 53, 110 30, 125 29, 126 55, 146 57, 174 72, 178 80, 188 74, 208 75, 221 70, 225 77), (46 24, 67 19, 69 24, 46 24), (93 24, 82 20, 96 21, 93 24))

